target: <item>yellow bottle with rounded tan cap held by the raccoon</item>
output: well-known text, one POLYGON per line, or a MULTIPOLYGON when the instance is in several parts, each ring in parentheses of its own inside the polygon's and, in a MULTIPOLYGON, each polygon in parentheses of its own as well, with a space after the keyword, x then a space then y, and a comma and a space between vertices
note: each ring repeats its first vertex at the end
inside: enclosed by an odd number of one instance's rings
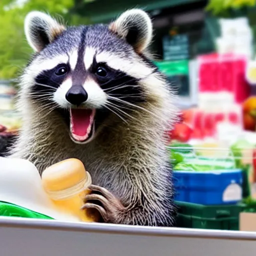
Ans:
POLYGON ((61 211, 76 215, 81 221, 98 220, 98 212, 81 209, 83 198, 90 193, 90 174, 76 158, 57 162, 42 172, 42 184, 54 205, 61 211))

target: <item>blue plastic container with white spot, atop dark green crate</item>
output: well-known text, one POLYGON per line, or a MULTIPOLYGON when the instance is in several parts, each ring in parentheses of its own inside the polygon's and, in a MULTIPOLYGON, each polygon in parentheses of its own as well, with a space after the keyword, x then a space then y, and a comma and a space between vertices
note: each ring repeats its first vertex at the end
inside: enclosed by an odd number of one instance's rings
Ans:
POLYGON ((242 170, 173 171, 175 200, 204 205, 242 199, 242 170))

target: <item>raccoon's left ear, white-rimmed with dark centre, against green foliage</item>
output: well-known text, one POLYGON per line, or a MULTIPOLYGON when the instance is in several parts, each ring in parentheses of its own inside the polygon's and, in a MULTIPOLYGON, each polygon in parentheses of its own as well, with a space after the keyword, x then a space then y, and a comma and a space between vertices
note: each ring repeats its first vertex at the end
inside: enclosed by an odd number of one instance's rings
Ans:
POLYGON ((63 25, 43 12, 31 11, 25 17, 24 31, 27 42, 37 52, 55 40, 63 30, 63 25))

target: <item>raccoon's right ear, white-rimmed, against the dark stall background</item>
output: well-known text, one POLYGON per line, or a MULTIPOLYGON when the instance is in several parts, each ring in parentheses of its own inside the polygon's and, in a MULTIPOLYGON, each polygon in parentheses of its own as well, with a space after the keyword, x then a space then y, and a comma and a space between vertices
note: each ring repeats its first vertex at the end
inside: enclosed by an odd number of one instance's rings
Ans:
POLYGON ((141 53, 152 40, 152 22, 148 14, 141 9, 123 12, 109 29, 131 44, 137 53, 141 53))

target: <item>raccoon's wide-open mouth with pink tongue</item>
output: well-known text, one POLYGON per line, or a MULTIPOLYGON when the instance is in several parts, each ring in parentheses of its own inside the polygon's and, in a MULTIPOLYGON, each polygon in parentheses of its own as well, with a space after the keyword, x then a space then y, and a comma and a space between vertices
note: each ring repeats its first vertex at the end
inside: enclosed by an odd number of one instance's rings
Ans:
POLYGON ((77 141, 88 138, 92 129, 95 110, 70 108, 70 133, 77 141))

